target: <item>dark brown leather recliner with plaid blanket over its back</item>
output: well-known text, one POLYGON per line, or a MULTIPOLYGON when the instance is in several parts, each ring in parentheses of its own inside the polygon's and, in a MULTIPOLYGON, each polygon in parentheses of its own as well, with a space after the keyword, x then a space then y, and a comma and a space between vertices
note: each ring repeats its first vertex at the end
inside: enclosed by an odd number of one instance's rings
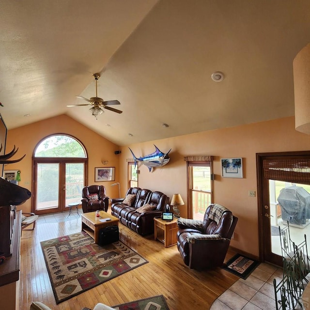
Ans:
POLYGON ((179 218, 177 248, 184 263, 193 269, 223 264, 238 217, 220 204, 208 206, 203 221, 179 218))

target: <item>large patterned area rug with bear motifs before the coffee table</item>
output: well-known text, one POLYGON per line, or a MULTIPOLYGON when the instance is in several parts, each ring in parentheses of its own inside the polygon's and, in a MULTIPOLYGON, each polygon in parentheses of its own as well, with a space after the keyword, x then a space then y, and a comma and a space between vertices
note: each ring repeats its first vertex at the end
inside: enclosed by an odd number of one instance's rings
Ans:
POLYGON ((42 241, 41 248, 57 304, 148 263, 121 241, 99 246, 84 232, 42 241))

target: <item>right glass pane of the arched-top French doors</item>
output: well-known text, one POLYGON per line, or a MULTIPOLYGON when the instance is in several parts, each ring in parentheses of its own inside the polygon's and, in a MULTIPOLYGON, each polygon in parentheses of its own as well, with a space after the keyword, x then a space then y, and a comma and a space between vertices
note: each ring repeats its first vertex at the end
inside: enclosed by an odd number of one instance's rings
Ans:
POLYGON ((66 198, 65 205, 71 202, 80 202, 84 186, 84 164, 66 163, 66 198))

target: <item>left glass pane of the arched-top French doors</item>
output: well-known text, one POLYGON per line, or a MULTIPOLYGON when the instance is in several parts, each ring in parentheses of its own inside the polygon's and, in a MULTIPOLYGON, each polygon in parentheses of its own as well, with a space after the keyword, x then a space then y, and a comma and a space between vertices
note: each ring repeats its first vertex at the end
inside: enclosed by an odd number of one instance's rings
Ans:
POLYGON ((58 207, 59 163, 37 164, 36 210, 58 207))

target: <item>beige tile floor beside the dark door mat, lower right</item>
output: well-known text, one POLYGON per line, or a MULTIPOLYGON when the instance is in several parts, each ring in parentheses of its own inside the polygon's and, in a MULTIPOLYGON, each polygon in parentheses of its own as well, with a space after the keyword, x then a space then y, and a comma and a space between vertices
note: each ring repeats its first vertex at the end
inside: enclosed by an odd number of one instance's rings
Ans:
POLYGON ((212 304, 210 310, 276 310, 273 279, 283 270, 261 263, 246 280, 239 279, 212 304))

